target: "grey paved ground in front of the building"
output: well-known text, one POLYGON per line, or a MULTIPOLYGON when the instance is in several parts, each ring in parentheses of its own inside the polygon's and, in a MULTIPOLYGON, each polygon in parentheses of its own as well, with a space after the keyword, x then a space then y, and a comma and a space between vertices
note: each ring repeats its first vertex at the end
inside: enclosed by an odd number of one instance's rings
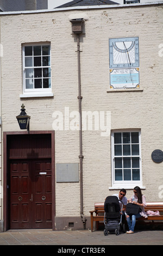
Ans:
MULTIPOLYGON (((51 229, 9 230, 0 233, 1 245, 163 245, 163 230, 136 230, 134 234, 109 234, 103 230, 53 231, 51 229)), ((74 246, 73 246, 74 245, 74 246)), ((58 247, 63 248, 63 247, 58 247)))

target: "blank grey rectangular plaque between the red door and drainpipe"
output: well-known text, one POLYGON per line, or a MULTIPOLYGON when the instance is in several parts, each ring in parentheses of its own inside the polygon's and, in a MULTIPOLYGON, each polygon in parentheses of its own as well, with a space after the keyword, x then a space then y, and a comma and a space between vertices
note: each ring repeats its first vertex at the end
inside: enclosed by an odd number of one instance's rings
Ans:
POLYGON ((79 164, 57 163, 56 179, 57 182, 79 182, 79 164))

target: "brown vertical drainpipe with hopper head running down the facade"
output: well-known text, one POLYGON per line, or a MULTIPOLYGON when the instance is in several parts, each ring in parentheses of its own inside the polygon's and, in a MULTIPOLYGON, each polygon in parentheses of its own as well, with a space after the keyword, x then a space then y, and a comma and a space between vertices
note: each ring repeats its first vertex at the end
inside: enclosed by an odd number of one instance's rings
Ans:
POLYGON ((83 143, 82 143, 82 94, 81 94, 81 76, 80 76, 80 34, 82 34, 83 19, 70 20, 72 23, 72 32, 77 35, 77 53, 78 53, 78 100, 79 100, 79 147, 80 147, 80 216, 82 222, 86 224, 86 217, 83 211, 83 143))

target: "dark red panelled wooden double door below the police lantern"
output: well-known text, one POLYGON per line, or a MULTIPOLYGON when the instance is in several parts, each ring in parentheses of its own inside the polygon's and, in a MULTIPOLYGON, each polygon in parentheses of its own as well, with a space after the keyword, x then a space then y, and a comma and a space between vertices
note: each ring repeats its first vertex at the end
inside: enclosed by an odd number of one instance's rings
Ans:
POLYGON ((10 160, 10 228, 52 228, 51 159, 10 160))

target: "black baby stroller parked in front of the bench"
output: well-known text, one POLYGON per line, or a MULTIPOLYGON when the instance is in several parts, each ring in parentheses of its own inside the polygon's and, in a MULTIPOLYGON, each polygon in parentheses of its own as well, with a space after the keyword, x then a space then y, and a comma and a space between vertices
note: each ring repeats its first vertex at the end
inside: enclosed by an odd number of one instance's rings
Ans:
POLYGON ((122 203, 122 201, 119 200, 116 196, 106 197, 104 203, 104 235, 108 235, 108 232, 115 232, 116 235, 119 235, 121 229, 123 229, 123 232, 125 233, 125 224, 122 224, 122 214, 120 213, 119 202, 122 203))

